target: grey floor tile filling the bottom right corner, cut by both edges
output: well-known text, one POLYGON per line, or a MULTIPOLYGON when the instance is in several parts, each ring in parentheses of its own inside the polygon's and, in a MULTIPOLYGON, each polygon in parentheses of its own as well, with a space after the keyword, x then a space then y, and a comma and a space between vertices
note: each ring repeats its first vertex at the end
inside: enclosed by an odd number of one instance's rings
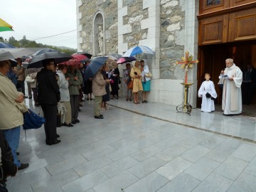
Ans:
POLYGON ((228 189, 228 192, 255 192, 256 177, 250 174, 242 173, 233 185, 228 189))

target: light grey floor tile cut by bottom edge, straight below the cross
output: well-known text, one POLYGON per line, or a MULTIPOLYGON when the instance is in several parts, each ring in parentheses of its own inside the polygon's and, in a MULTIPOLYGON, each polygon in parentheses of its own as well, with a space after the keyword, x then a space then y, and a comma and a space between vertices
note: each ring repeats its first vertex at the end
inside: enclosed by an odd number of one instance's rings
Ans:
POLYGON ((200 181, 188 174, 181 173, 169 183, 160 188, 157 192, 190 192, 193 191, 200 181))

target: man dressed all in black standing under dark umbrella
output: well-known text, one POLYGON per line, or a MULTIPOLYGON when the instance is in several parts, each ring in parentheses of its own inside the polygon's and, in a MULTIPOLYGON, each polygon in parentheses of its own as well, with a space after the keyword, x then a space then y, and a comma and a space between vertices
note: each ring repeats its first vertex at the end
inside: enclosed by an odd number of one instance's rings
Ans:
POLYGON ((46 59, 42 61, 43 69, 38 72, 38 102, 41 103, 46 123, 44 124, 46 132, 46 144, 58 144, 57 139, 57 104, 60 101, 60 90, 54 69, 54 60, 46 59))

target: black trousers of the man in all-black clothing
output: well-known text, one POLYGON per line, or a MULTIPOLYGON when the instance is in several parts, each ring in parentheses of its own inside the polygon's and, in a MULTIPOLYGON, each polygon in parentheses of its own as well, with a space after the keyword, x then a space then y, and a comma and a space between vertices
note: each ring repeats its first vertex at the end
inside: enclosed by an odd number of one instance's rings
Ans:
POLYGON ((53 142, 57 139, 57 105, 41 103, 43 116, 46 118, 44 124, 46 132, 46 142, 53 142))

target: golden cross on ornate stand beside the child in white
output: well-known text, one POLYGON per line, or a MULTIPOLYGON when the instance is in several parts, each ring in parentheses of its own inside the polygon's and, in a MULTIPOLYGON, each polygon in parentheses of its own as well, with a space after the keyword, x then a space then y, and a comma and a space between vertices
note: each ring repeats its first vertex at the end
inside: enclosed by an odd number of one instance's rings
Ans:
POLYGON ((198 63, 198 60, 193 60, 193 56, 188 56, 188 51, 185 53, 185 57, 181 57, 182 61, 177 61, 176 64, 181 64, 181 68, 185 68, 185 81, 181 83, 184 88, 184 102, 182 105, 178 105, 176 107, 177 112, 186 112, 190 115, 192 106, 188 104, 188 89, 191 85, 193 85, 192 82, 188 82, 188 68, 193 68, 193 64, 198 63))

